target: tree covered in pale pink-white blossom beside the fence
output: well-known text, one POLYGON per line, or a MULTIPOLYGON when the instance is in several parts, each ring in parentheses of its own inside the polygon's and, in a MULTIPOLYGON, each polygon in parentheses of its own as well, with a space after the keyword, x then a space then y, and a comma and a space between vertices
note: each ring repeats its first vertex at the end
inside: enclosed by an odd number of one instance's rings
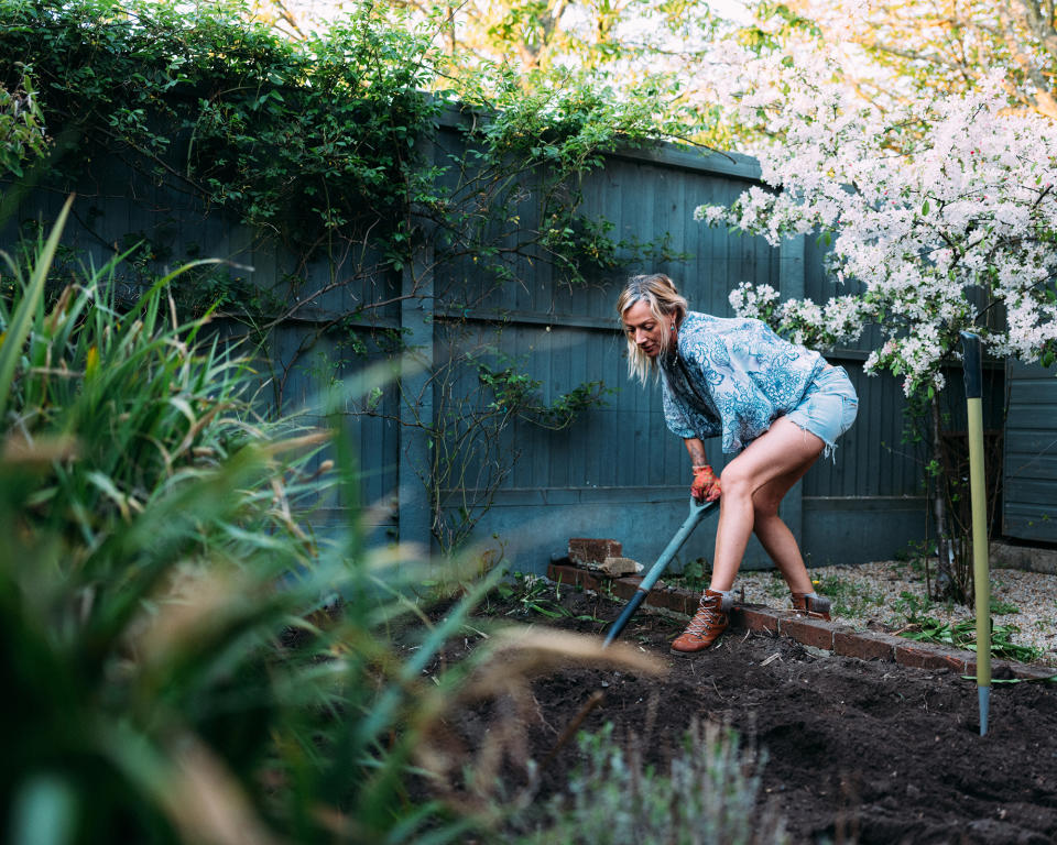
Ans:
MULTIPOLYGON (((766 113, 783 142, 759 153, 765 187, 695 216, 775 245, 821 233, 837 289, 825 303, 780 303, 772 288, 743 284, 731 304, 818 348, 880 327, 865 372, 902 376, 907 396, 931 399, 935 457, 936 393, 960 331, 979 333, 994 355, 1055 360, 1057 123, 1010 110, 999 79, 894 117, 848 108, 817 67, 752 65, 742 108, 766 113)), ((934 507, 949 590, 949 516, 941 496, 934 507)))

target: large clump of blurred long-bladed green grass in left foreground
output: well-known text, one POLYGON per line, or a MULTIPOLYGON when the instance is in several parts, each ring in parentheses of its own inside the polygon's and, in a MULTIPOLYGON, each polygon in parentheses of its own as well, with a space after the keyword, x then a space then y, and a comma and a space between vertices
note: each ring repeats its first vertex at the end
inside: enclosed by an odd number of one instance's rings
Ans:
POLYGON ((56 293, 69 206, 0 278, 0 830, 25 845, 486 835, 523 732, 460 746, 445 714, 475 696, 526 710, 528 679, 570 659, 654 663, 469 627, 499 566, 431 618, 426 561, 366 548, 356 508, 316 538, 305 503, 359 490, 339 428, 254 415, 247 361, 172 305, 187 267, 128 306, 120 257, 56 293), (308 471, 320 450, 334 472, 308 471), (468 633, 482 647, 443 659, 468 633))

